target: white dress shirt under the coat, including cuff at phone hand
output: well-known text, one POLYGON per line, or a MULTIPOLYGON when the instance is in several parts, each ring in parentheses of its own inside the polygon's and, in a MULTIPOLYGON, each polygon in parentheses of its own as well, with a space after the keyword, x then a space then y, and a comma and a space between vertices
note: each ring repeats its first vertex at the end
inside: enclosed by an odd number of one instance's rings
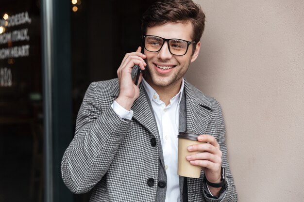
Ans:
MULTIPOLYGON (((159 95, 143 78, 144 86, 154 111, 161 140, 165 169, 167 174, 167 191, 165 202, 180 202, 179 176, 177 174, 179 108, 184 90, 184 78, 179 93, 170 99, 168 106, 159 99, 159 95)), ((121 118, 132 119, 133 111, 126 110, 116 101, 112 108, 121 118)))

